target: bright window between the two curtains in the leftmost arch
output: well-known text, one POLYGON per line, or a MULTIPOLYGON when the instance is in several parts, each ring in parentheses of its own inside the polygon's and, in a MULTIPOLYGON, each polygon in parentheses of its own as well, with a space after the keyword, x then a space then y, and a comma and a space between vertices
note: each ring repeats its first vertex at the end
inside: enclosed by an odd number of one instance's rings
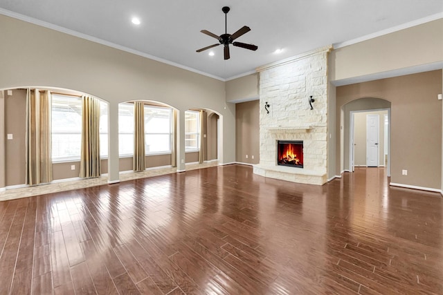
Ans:
POLYGON ((80 160, 82 99, 52 95, 52 158, 54 162, 80 160))

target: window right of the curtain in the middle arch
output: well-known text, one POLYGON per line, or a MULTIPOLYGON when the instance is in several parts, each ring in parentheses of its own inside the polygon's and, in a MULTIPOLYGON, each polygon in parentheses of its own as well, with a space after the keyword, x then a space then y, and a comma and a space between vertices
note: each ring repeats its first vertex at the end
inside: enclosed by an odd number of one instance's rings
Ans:
POLYGON ((145 153, 171 153, 172 109, 145 105, 145 153))

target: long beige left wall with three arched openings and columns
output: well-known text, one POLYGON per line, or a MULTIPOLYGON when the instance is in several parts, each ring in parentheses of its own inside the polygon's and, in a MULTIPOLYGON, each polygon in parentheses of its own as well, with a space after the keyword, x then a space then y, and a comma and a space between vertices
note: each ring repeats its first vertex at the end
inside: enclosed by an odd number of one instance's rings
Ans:
POLYGON ((206 108, 221 115, 221 163, 235 161, 235 105, 225 83, 159 61, 0 15, 0 89, 46 86, 73 89, 109 102, 109 181, 118 180, 118 103, 148 99, 179 110, 179 166, 184 112, 206 108), (32 45, 30 45, 32 44, 32 45))

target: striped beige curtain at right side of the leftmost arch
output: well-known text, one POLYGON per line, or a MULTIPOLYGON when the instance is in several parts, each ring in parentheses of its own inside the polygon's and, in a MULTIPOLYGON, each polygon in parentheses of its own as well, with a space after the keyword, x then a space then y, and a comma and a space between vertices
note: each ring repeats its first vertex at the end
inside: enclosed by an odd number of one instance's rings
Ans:
POLYGON ((100 100, 82 96, 80 178, 100 176, 100 100))

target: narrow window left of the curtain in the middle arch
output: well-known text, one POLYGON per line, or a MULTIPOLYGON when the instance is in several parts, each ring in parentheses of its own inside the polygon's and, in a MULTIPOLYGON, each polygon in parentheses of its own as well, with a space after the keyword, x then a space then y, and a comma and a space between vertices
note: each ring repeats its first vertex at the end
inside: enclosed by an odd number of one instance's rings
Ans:
POLYGON ((134 155, 134 104, 118 105, 118 154, 134 155))

